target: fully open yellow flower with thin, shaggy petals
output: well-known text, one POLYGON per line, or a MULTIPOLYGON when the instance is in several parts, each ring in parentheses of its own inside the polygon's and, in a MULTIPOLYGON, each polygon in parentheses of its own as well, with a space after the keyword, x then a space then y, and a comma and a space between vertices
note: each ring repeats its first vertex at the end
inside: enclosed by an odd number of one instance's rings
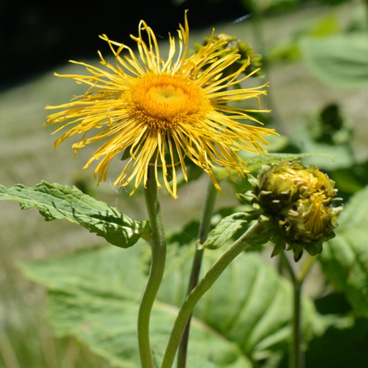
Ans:
POLYGON ((131 194, 142 180, 146 186, 148 167, 153 165, 158 187, 161 187, 160 168, 165 187, 177 198, 178 167, 188 180, 185 158, 202 168, 221 191, 213 174, 215 166, 223 166, 229 172, 235 170, 243 176, 247 172, 246 163, 239 157, 239 151, 264 153, 262 144, 267 142, 263 136, 276 134, 273 129, 238 122, 236 119, 258 121, 247 113, 254 110, 228 105, 251 98, 259 100, 260 95, 266 94, 261 90, 266 84, 229 89, 250 76, 239 78, 249 61, 230 75, 224 72, 240 55, 235 50, 219 57, 227 42, 221 39, 209 42, 189 57, 186 16, 185 26, 179 25, 178 36, 178 55, 175 56, 174 38, 169 35, 170 48, 163 59, 154 32, 142 20, 138 37, 130 36, 137 42, 138 55, 103 35, 100 37, 114 53, 116 65, 105 61, 99 52, 104 69, 71 61, 84 65, 90 75, 55 74, 90 86, 85 95, 70 103, 46 106, 63 110, 49 115, 45 124, 60 125, 54 133, 73 125, 55 141, 55 149, 74 134, 82 134, 79 142, 73 144, 75 154, 79 148, 101 141, 100 148, 84 166, 87 168, 94 160, 101 160, 95 170, 98 184, 106 180, 111 160, 124 152, 127 162, 114 185, 126 186, 134 180, 131 194), (127 53, 123 54, 124 51, 127 53), (101 131, 95 133, 94 129, 101 131))

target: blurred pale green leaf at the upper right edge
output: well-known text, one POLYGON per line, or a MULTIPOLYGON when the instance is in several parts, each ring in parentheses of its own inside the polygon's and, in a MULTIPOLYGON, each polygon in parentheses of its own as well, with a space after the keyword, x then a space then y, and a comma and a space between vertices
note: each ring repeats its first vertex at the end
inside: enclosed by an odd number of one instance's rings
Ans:
POLYGON ((301 48, 307 65, 323 82, 341 88, 368 87, 366 33, 306 37, 301 48))

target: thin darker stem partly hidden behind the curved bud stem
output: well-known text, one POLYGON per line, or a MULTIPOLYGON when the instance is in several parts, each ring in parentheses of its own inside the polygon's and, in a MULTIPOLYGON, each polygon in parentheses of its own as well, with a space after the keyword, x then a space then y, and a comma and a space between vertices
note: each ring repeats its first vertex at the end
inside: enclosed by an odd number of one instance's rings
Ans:
MULTIPOLYGON (((217 190, 212 184, 212 182, 209 180, 209 185, 207 187, 207 193, 206 193, 205 206, 202 212, 202 218, 201 218, 201 222, 200 222, 200 226, 198 230, 198 239, 200 240, 201 244, 203 244, 206 241, 207 235, 210 231, 211 218, 212 218, 212 213, 214 209, 214 204, 216 202, 216 195, 217 195, 217 190)), ((190 275, 187 295, 189 295, 198 284, 199 273, 201 271, 201 265, 202 265, 202 256, 203 256, 203 250, 199 250, 196 248, 196 252, 194 254, 194 259, 193 259, 193 264, 192 264, 192 271, 190 275)), ((181 341, 180 341, 177 368, 185 368, 185 365, 186 365, 191 318, 192 318, 192 315, 189 316, 188 322, 184 329, 183 337, 181 338, 181 341)))

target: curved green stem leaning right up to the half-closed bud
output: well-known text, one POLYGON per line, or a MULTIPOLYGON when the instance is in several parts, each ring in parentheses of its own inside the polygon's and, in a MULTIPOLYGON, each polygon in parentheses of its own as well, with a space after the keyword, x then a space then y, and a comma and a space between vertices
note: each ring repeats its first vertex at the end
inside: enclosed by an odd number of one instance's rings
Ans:
POLYGON ((262 225, 256 221, 237 241, 235 241, 212 265, 200 283, 192 290, 187 296, 183 305, 181 306, 179 313, 176 317, 174 326, 172 328, 169 341, 166 346, 166 350, 162 359, 161 368, 171 368, 176 350, 179 346, 179 342, 183 335, 185 326, 192 314, 194 307, 201 297, 210 289, 213 283, 217 280, 224 269, 229 265, 231 261, 235 259, 244 249, 248 248, 251 243, 247 242, 247 239, 254 235, 260 234, 264 231, 262 225))

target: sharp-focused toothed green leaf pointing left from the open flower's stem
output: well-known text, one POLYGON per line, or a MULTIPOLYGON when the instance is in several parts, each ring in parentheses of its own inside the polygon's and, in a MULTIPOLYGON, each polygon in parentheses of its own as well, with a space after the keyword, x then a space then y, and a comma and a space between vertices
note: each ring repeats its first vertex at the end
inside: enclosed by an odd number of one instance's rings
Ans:
POLYGON ((149 230, 148 221, 134 221, 75 187, 45 181, 34 187, 17 184, 6 188, 0 184, 0 200, 19 202, 22 210, 36 207, 46 221, 66 219, 77 223, 121 248, 131 247, 149 230))

